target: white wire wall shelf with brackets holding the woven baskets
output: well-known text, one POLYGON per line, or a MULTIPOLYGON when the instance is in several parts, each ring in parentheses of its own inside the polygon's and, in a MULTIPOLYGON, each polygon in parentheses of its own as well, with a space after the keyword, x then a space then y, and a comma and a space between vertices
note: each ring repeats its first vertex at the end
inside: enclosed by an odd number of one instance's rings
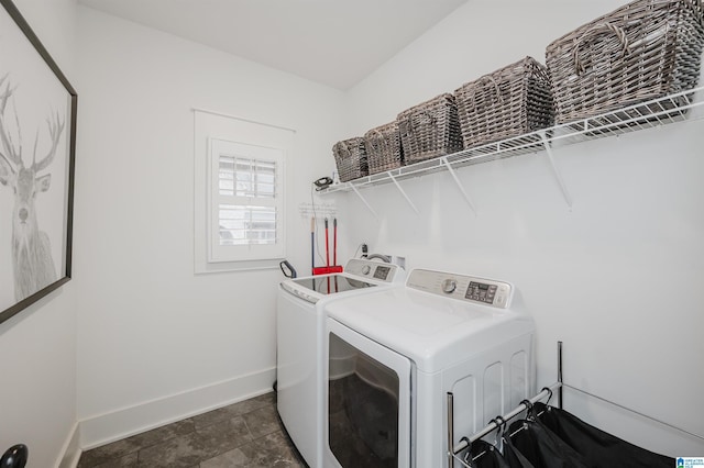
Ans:
MULTIPOLYGON (((679 92, 664 98, 618 109, 593 118, 559 124, 537 132, 475 146, 438 158, 402 166, 397 169, 361 177, 349 182, 336 183, 320 193, 353 191, 360 197, 374 216, 377 216, 376 212, 372 209, 372 205, 361 194, 360 189, 385 183, 394 183, 410 208, 416 213, 419 213, 418 209, 403 189, 399 181, 413 177, 421 177, 428 174, 449 171, 462 193, 462 197, 468 202, 472 211, 476 213, 476 209, 458 178, 455 169, 464 166, 488 163, 495 159, 546 151, 546 155, 550 160, 550 165, 562 190, 565 202, 571 207, 572 198, 554 163, 554 149, 560 146, 571 145, 574 143, 616 136, 634 131, 658 127, 674 122, 703 119, 704 112, 696 112, 695 110, 695 108, 704 105, 704 97, 702 96, 704 94, 703 91, 704 87, 696 88, 690 91, 679 92)), ((698 111, 702 110, 704 110, 704 108, 698 109, 698 111)))

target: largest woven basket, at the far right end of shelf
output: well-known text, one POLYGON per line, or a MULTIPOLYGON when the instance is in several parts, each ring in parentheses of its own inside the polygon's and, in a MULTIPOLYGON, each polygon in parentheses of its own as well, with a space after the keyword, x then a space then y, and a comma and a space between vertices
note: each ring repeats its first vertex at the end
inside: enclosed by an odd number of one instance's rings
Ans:
POLYGON ((696 87, 701 0, 638 0, 552 42, 556 121, 570 122, 696 87))

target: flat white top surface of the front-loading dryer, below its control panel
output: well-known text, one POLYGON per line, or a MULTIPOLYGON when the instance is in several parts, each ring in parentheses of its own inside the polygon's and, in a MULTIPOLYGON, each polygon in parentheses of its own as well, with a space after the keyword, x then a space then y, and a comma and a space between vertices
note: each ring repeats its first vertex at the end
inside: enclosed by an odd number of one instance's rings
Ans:
POLYGON ((341 299, 329 316, 435 372, 535 330, 532 319, 418 291, 394 288, 341 299))

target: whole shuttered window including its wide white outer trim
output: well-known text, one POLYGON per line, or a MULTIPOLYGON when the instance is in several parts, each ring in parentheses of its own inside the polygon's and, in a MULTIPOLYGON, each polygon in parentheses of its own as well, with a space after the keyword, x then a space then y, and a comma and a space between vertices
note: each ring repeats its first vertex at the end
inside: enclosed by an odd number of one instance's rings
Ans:
POLYGON ((295 132, 194 110, 195 270, 278 268, 295 132))

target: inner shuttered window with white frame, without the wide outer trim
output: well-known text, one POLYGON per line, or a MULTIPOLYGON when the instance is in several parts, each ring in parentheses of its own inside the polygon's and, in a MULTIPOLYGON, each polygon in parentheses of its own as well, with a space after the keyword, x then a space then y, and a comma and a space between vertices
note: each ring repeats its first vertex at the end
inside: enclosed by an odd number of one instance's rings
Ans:
POLYGON ((282 258, 283 152, 210 140, 209 261, 282 258))

